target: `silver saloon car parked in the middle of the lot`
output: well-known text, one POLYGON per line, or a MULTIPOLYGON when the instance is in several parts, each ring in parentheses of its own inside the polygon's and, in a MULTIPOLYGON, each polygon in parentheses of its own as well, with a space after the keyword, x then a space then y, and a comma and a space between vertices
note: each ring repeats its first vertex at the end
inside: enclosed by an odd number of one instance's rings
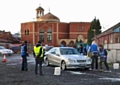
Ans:
POLYGON ((47 65, 60 66, 62 70, 69 68, 86 68, 91 66, 91 58, 81 55, 73 47, 53 47, 45 53, 47 65))

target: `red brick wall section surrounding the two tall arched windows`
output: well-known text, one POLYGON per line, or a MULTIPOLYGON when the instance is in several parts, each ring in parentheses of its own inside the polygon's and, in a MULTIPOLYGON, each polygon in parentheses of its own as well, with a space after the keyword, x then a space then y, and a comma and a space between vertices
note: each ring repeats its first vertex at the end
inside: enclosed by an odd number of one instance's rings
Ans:
POLYGON ((40 29, 44 29, 44 42, 42 43, 43 45, 48 44, 48 45, 56 45, 56 41, 57 41, 57 35, 56 35, 56 31, 57 31, 57 23, 54 22, 36 22, 35 24, 35 31, 36 31, 36 42, 39 40, 39 32, 40 29), (47 42, 47 30, 51 29, 52 30, 52 42, 47 42))

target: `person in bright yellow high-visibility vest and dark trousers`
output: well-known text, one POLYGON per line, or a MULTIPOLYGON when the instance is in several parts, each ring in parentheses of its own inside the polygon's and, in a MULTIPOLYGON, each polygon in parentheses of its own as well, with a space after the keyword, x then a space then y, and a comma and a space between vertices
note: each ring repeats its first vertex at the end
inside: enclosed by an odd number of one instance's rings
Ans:
POLYGON ((44 49, 41 45, 41 42, 38 41, 36 46, 33 47, 33 55, 35 58, 35 74, 38 75, 38 65, 39 65, 39 74, 42 74, 42 63, 44 61, 44 49))

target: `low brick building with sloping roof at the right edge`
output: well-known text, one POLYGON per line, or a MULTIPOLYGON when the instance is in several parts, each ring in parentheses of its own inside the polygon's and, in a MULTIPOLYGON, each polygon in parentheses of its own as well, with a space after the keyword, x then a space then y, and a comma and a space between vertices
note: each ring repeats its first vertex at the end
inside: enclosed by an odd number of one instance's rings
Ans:
POLYGON ((99 44, 120 43, 120 23, 117 23, 102 34, 98 35, 97 41, 99 44))

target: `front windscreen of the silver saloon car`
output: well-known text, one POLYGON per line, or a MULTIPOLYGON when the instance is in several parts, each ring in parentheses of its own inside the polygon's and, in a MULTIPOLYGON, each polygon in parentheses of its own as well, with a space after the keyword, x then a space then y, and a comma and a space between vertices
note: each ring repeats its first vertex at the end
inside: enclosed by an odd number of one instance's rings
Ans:
POLYGON ((62 55, 79 55, 79 52, 74 48, 60 48, 60 53, 62 55))

